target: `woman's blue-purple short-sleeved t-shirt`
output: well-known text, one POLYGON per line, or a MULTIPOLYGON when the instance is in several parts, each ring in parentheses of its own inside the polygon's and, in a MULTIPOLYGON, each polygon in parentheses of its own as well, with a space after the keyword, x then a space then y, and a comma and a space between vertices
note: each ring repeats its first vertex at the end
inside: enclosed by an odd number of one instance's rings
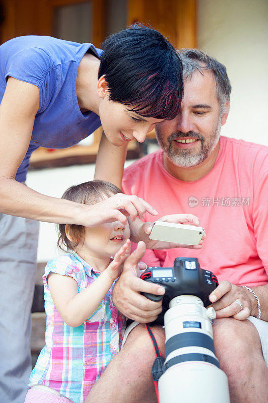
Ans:
POLYGON ((49 36, 21 36, 0 46, 0 101, 9 76, 36 85, 40 92, 31 142, 16 175, 19 182, 25 181, 30 156, 39 146, 71 147, 101 125, 98 115, 82 113, 78 105, 77 72, 86 52, 96 57, 102 53, 91 43, 49 36))

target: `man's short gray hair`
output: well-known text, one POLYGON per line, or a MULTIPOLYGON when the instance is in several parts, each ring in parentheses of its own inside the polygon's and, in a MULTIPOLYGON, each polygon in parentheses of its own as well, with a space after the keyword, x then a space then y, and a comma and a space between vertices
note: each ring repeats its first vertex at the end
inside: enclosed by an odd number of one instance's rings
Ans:
POLYGON ((227 76, 226 67, 214 57, 198 49, 180 49, 178 54, 182 61, 183 78, 191 77, 195 70, 204 74, 204 70, 211 70, 216 81, 217 97, 223 110, 227 101, 230 101, 231 84, 227 76))

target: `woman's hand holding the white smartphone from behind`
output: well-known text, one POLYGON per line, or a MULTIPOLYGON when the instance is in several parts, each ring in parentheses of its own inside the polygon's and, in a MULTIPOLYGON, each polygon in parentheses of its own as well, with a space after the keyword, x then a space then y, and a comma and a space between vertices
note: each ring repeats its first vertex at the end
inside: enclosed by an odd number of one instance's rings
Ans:
MULTIPOLYGON (((170 214, 161 217, 157 221, 164 221, 167 223, 176 223, 176 224, 192 224, 197 227, 199 225, 199 219, 193 216, 192 214, 170 214)), ((152 228, 153 223, 149 222, 143 223, 140 220, 136 220, 135 223, 130 223, 131 235, 135 234, 135 236, 131 237, 131 240, 134 242, 144 241, 146 243, 147 249, 170 249, 170 248, 202 249, 203 242, 206 238, 206 234, 204 234, 199 244, 195 246, 173 242, 156 241, 149 238, 152 228)))

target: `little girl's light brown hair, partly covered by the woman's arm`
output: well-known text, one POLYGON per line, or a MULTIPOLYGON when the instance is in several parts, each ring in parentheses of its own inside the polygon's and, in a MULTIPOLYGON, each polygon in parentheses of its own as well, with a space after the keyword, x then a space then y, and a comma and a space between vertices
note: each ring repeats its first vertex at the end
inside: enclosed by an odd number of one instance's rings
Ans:
MULTIPOLYGON (((104 200, 105 196, 110 197, 116 193, 122 193, 122 190, 112 183, 103 180, 92 180, 69 187, 61 198, 75 201, 82 205, 95 205, 104 200)), ((85 230, 82 225, 58 224, 58 247, 64 251, 65 249, 75 250, 80 242, 84 242, 84 234, 85 230), (66 235, 66 228, 68 228, 72 241, 66 235)))

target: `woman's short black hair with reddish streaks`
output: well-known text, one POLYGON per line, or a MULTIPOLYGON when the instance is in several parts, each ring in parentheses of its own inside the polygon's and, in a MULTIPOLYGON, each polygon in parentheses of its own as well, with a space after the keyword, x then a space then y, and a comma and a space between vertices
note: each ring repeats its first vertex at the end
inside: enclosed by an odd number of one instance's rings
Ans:
POLYGON ((98 78, 105 76, 111 101, 144 117, 174 119, 183 96, 182 64, 160 32, 135 24, 109 36, 102 48, 98 78))

